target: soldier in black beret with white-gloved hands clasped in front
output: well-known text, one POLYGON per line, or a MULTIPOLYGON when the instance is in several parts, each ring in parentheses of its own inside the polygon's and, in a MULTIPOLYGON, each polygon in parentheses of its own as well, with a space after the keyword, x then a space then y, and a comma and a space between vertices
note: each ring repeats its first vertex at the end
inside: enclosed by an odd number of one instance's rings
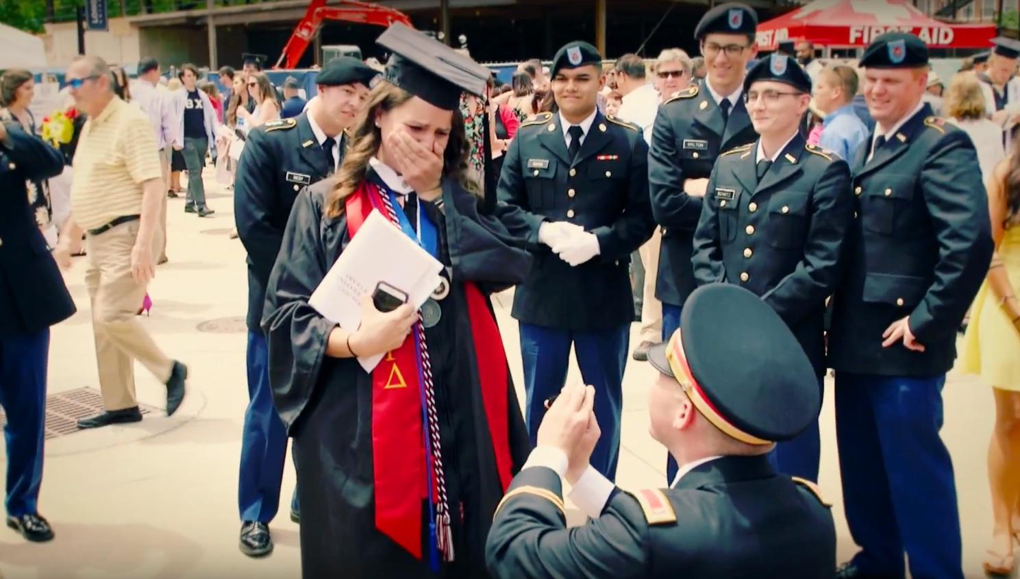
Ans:
POLYGON ((614 478, 623 370, 633 297, 630 254, 655 227, 648 195, 648 145, 635 125, 596 105, 602 56, 571 42, 553 58, 559 111, 520 126, 499 183, 501 219, 526 240, 534 262, 514 294, 531 440, 543 401, 567 376, 571 346, 603 403, 605 434, 593 463, 614 478))

